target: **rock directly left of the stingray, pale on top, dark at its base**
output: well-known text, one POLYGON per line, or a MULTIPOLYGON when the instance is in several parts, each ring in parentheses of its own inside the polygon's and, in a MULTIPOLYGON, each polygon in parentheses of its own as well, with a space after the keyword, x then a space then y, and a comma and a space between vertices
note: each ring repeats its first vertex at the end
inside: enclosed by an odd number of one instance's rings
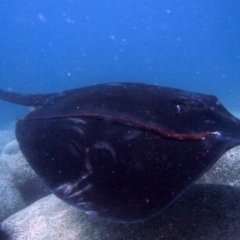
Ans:
POLYGON ((0 161, 8 167, 12 181, 27 205, 50 193, 23 157, 16 140, 5 146, 0 161))

